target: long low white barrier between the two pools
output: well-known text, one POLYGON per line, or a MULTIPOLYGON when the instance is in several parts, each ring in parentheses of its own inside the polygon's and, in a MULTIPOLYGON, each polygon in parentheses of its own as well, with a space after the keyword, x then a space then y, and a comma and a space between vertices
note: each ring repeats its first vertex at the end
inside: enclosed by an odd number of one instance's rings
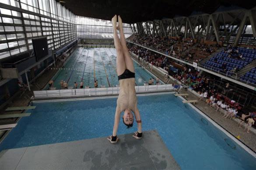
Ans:
MULTIPOLYGON (((157 91, 174 91, 172 85, 143 85, 135 86, 136 92, 157 92, 157 91)), ((79 88, 63 90, 42 90, 34 91, 34 99, 70 97, 70 96, 97 96, 97 95, 118 95, 120 87, 108 88, 79 88)))

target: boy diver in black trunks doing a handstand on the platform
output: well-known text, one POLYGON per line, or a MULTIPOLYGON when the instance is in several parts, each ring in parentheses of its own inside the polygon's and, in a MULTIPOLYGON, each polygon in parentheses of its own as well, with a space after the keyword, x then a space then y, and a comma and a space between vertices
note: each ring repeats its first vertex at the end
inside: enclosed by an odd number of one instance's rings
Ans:
POLYGON ((115 122, 113 127, 113 133, 108 138, 111 143, 116 143, 118 141, 118 137, 116 135, 121 112, 124 111, 122 116, 123 123, 127 126, 127 128, 133 126, 133 113, 137 122, 137 132, 133 135, 136 139, 142 138, 142 130, 141 130, 141 119, 140 112, 137 108, 137 96, 135 92, 135 71, 133 66, 133 61, 130 58, 129 50, 126 46, 125 37, 123 34, 123 22, 120 16, 118 16, 118 27, 116 26, 117 17, 116 15, 112 18, 113 24, 113 36, 114 36, 114 44, 116 48, 116 72, 118 75, 120 90, 119 96, 117 99, 116 105, 116 114, 115 114, 115 122), (117 35, 117 30, 119 30, 120 40, 117 35), (133 113, 132 113, 133 112, 133 113))

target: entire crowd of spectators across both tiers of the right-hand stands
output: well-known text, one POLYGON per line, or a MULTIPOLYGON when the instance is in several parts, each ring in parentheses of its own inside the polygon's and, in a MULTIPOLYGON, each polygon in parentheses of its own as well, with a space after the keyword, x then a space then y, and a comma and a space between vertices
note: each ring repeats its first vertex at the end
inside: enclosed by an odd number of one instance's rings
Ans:
MULTIPOLYGON (((176 58, 183 58, 186 60, 194 60, 200 61, 203 59, 203 56, 208 56, 213 52, 217 51, 218 45, 205 45, 198 44, 192 50, 188 50, 189 47, 194 45, 193 40, 180 41, 178 39, 168 38, 158 38, 152 36, 141 36, 141 35, 133 35, 130 40, 137 42, 138 44, 144 45, 149 48, 154 48, 158 51, 161 51, 165 54, 171 55, 176 58), (167 42, 167 43, 165 43, 167 42)), ((169 68, 172 67, 169 62, 169 58, 165 58, 165 56, 154 53, 145 48, 133 45, 129 46, 130 52, 138 55, 144 61, 151 63, 157 67, 164 68, 170 73, 169 68)), ((228 46, 225 49, 225 52, 228 53, 228 58, 239 58, 243 59, 242 54, 239 53, 238 49, 231 48, 228 46)), ((223 63, 222 68, 225 69, 226 63, 223 63)), ((241 122, 247 121, 247 132, 249 132, 249 127, 254 123, 253 121, 256 119, 256 113, 249 114, 239 114, 238 111, 242 109, 242 107, 232 99, 229 99, 224 95, 224 92, 217 92, 214 87, 210 86, 210 82, 214 81, 212 78, 207 75, 198 76, 199 72, 194 70, 193 68, 184 67, 184 69, 178 69, 172 76, 182 82, 182 86, 192 88, 194 91, 200 94, 199 100, 204 100, 207 105, 216 109, 216 111, 220 111, 224 113, 224 118, 234 118, 237 116, 241 117, 241 122), (246 118, 246 119, 245 119, 246 118)), ((229 83, 226 84, 226 89, 228 88, 229 83)), ((239 111, 240 112, 240 111, 239 111)))

